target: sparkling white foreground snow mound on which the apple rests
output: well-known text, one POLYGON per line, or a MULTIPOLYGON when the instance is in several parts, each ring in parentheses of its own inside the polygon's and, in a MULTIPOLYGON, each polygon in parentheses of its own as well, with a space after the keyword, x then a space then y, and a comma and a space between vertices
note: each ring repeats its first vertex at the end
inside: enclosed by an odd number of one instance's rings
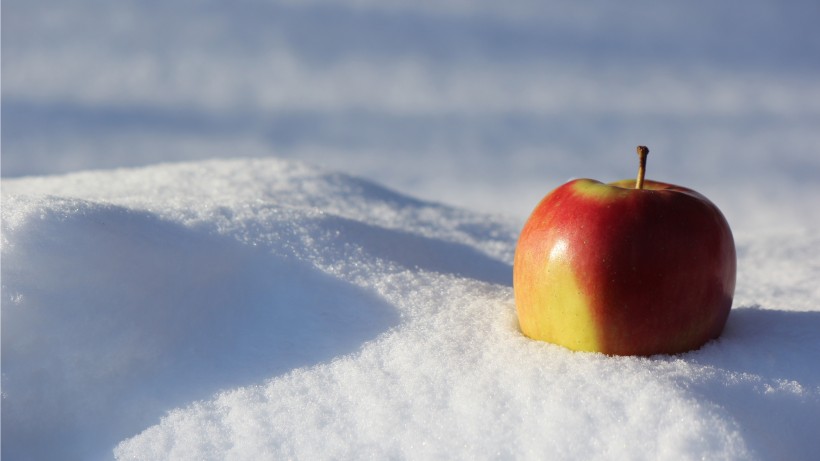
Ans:
POLYGON ((727 330, 517 328, 505 219, 281 160, 3 182, 13 459, 811 459, 815 233, 744 233, 727 330), (113 454, 112 454, 113 449, 113 454))

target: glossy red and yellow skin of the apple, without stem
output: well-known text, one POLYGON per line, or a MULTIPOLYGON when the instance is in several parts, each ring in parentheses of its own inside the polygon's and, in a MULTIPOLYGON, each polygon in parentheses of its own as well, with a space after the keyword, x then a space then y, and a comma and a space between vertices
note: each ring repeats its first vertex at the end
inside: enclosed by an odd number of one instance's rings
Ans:
POLYGON ((720 336, 735 290, 729 224, 703 195, 647 180, 570 181, 521 232, 521 331, 577 351, 676 354, 720 336))

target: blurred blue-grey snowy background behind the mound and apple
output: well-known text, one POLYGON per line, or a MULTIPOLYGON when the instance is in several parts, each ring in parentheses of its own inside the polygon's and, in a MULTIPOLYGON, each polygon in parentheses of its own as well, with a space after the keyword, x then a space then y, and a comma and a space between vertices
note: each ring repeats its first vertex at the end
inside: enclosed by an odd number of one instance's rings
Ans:
MULTIPOLYGON (((307 160, 519 220, 569 177, 820 197, 820 3, 3 2, 3 177, 307 160), (715 187, 722 183, 721 187, 715 187), (726 186, 729 187, 726 187, 726 186)), ((780 200, 784 202, 783 200, 780 200)), ((801 223, 804 204, 774 221, 801 223)))

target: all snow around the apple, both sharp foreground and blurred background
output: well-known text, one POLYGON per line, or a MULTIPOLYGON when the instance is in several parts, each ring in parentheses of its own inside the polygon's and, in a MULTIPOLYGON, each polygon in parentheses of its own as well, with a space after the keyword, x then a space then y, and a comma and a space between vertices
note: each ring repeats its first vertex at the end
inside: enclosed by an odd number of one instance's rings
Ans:
POLYGON ((3 2, 7 459, 820 451, 814 2, 3 2), (531 341, 571 177, 703 193, 726 331, 531 341))

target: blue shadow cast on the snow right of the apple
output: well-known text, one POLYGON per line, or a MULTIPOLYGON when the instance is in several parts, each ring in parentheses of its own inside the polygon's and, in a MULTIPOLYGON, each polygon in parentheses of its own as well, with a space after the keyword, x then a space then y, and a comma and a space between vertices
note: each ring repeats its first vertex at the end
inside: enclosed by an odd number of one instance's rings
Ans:
POLYGON ((816 459, 820 312, 735 308, 717 341, 683 357, 713 371, 686 387, 731 416, 761 459, 816 459))

